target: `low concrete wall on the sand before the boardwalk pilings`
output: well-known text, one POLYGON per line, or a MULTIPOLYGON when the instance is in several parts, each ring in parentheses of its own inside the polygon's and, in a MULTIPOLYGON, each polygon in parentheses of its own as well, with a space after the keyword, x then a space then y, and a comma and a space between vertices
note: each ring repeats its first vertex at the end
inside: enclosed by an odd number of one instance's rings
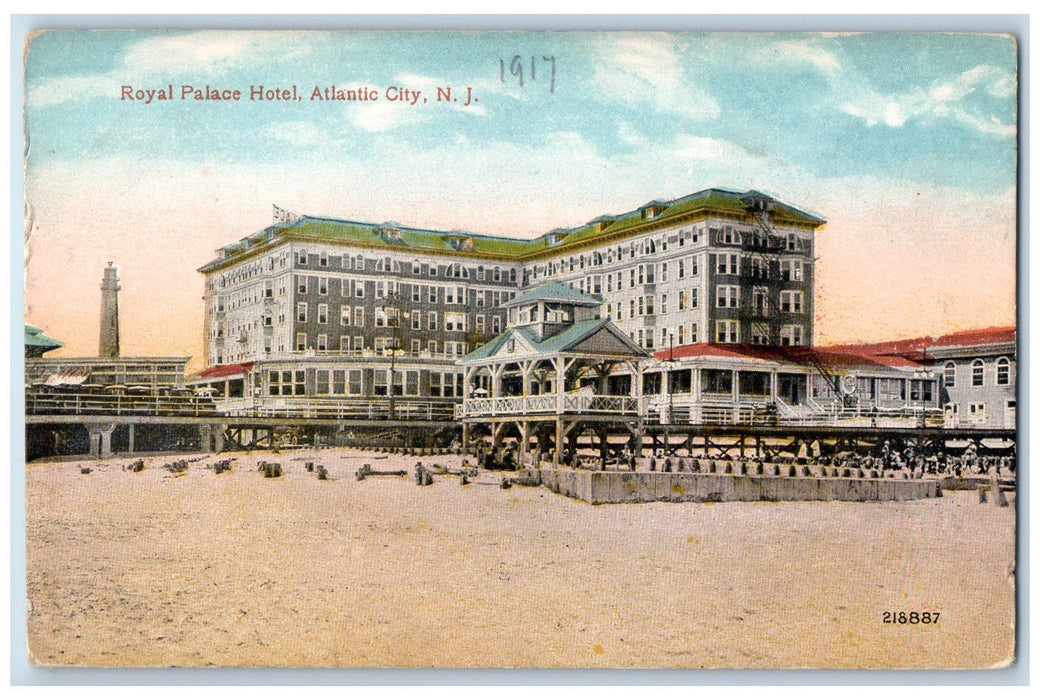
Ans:
POLYGON ((542 469, 542 486, 588 503, 729 500, 916 500, 941 495, 935 481, 742 476, 542 469))

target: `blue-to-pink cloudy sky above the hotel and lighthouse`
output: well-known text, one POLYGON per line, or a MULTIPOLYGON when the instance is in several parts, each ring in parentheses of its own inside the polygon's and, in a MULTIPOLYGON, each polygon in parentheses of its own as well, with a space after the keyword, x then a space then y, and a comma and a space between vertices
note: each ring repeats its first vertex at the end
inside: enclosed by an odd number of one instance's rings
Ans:
POLYGON ((54 31, 25 62, 25 317, 54 356, 97 354, 114 261, 123 353, 200 369, 197 269, 272 204, 532 237, 708 187, 828 221, 817 344, 1015 322, 1007 35, 54 31))

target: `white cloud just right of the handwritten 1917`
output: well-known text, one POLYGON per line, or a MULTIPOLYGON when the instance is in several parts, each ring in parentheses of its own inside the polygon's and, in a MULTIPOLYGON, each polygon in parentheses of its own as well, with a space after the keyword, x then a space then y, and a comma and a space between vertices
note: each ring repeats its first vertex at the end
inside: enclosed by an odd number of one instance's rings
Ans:
POLYGON ((672 34, 597 36, 593 84, 607 100, 652 104, 659 112, 714 119, 718 102, 682 68, 680 38, 672 34))

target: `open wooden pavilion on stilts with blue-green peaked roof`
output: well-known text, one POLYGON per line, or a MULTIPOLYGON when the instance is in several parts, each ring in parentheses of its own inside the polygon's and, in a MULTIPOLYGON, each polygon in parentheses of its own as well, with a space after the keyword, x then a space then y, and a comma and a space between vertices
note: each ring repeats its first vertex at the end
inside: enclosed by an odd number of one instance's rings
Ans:
POLYGON ((463 443, 490 433, 497 449, 508 434, 519 439, 521 463, 531 440, 536 453, 561 463, 565 443, 590 431, 607 457, 610 435, 642 436, 642 363, 649 354, 609 319, 602 300, 548 282, 503 304, 503 333, 464 357, 463 403, 457 417, 463 443), (616 374, 615 369, 624 369, 616 374))

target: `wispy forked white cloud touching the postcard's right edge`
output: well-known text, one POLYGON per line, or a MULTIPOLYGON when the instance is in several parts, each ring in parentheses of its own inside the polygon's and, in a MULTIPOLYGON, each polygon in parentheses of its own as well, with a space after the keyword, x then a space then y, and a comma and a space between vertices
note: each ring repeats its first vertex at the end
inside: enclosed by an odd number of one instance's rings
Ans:
POLYGON ((951 119, 982 133, 1014 136, 1017 127, 1005 124, 992 114, 980 114, 964 104, 978 89, 990 95, 1014 94, 1014 78, 993 66, 978 66, 952 80, 933 83, 928 88, 884 95, 864 86, 840 105, 848 114, 863 120, 868 126, 884 124, 900 128, 911 120, 951 119))

